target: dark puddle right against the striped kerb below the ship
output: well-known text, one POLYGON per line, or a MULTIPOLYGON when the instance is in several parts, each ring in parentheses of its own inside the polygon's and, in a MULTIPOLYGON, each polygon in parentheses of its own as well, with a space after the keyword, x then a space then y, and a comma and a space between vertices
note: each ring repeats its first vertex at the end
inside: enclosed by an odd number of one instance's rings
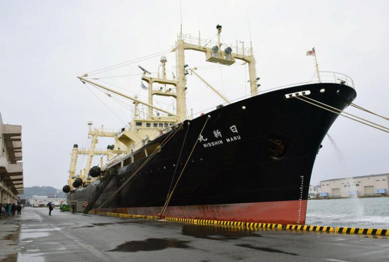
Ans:
POLYGON ((258 230, 246 227, 184 225, 182 234, 195 238, 215 240, 261 237, 261 235, 254 233, 255 231, 258 230))

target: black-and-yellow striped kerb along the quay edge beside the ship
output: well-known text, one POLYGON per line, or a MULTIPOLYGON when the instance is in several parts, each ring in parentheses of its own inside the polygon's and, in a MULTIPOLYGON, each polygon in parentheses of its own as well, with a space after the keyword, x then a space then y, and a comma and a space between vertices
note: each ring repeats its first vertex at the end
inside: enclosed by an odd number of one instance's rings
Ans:
MULTIPOLYGON (((95 214, 120 217, 120 218, 140 218, 159 220, 158 216, 147 216, 147 215, 132 215, 124 213, 114 212, 102 212, 95 211, 95 214)), ((206 219, 192 219, 192 218, 174 218, 166 217, 165 221, 179 222, 194 224, 198 226, 230 226, 230 227, 241 227, 241 228, 252 228, 252 229, 269 229, 269 230, 285 230, 285 231, 307 231, 307 232, 324 232, 329 234, 355 234, 365 235, 369 237, 389 237, 389 229, 372 229, 372 228, 352 228, 352 227, 329 227, 329 226, 310 226, 310 225, 282 225, 272 223, 251 223, 251 222, 238 222, 238 221, 222 221, 222 220, 206 220, 206 219)))

